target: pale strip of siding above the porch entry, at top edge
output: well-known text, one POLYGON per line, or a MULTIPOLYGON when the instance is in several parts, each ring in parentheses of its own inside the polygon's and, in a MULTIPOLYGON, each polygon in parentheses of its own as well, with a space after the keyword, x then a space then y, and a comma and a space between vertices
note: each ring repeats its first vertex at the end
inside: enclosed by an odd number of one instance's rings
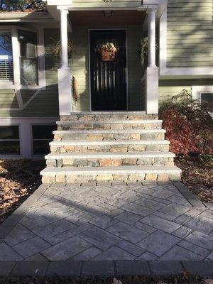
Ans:
POLYGON ((138 0, 113 0, 111 2, 101 0, 73 0, 72 5, 75 8, 136 8, 141 6, 138 0))

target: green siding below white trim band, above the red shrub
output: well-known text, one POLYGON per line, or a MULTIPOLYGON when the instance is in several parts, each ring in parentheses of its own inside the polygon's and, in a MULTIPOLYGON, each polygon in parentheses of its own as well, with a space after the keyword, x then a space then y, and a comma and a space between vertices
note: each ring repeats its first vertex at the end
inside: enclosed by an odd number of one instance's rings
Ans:
POLYGON ((192 86, 212 85, 211 79, 200 80, 160 80, 159 82, 159 105, 166 99, 180 94, 183 89, 192 90, 192 86))

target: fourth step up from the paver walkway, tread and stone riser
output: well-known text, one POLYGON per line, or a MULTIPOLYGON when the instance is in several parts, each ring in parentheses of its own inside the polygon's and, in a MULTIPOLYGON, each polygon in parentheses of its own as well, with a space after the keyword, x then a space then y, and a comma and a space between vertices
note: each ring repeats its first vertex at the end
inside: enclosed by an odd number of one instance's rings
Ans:
POLYGON ((163 140, 164 129, 133 130, 62 130, 53 131, 55 141, 103 141, 103 140, 163 140))

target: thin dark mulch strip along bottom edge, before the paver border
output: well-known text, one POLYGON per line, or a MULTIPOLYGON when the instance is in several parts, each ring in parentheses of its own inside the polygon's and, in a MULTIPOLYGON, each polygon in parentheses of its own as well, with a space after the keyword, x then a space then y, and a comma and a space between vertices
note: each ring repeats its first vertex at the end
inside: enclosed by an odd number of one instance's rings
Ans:
POLYGON ((213 284, 212 279, 192 277, 187 273, 170 277, 124 276, 116 278, 2 278, 0 284, 213 284))

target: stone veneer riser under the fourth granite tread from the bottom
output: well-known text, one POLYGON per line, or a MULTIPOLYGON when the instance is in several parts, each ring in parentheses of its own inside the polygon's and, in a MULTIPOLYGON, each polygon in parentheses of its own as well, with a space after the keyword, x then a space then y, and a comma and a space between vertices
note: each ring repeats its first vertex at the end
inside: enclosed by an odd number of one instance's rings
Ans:
MULTIPOLYGON (((56 132, 56 131, 55 131, 56 132)), ((118 140, 163 140, 163 132, 147 133, 55 133, 54 141, 73 140, 73 141, 118 141, 118 140)))

